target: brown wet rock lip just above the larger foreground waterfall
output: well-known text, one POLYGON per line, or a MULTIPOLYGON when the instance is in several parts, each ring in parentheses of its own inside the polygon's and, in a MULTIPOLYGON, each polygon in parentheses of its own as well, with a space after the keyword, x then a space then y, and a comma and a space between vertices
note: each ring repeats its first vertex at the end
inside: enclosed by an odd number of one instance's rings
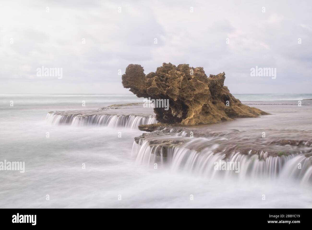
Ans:
MULTIPOLYGON (((142 126, 142 125, 141 125, 142 126)), ((143 125, 144 126, 144 125, 143 125)), ((268 156, 289 156, 303 154, 306 157, 312 155, 312 141, 308 140, 286 140, 274 138, 248 137, 248 132, 237 129, 223 131, 212 131, 205 128, 190 130, 181 126, 165 127, 151 126, 154 130, 150 133, 143 133, 135 137, 135 142, 141 145, 147 141, 150 147, 157 147, 156 152, 162 152, 162 156, 167 156, 170 148, 181 147, 195 150, 199 154, 207 149, 213 149, 215 154, 223 154, 224 159, 239 153, 242 155, 257 155, 258 158, 265 159, 268 156), (190 144, 191 143, 191 144, 190 144)))

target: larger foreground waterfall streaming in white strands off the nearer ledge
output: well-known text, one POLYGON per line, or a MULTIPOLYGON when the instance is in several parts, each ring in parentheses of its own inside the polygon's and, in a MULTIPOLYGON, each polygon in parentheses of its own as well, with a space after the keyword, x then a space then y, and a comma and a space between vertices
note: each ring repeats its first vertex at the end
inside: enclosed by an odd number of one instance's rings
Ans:
MULTIPOLYGON (((174 137, 173 137, 174 138, 174 137)), ((224 154, 215 151, 218 144, 204 146, 200 151, 194 150, 200 140, 196 138, 179 147, 150 146, 148 140, 134 142, 132 156, 136 163, 154 165, 158 163, 173 171, 189 171, 203 176, 235 176, 239 179, 251 178, 281 178, 299 179, 302 182, 312 182, 312 156, 292 154, 288 156, 268 156, 267 152, 243 155, 240 152, 224 154), (239 172, 235 170, 216 170, 216 162, 239 162, 239 172)), ((206 140, 206 143, 209 140, 206 140)), ((250 151, 251 153, 251 151, 250 151)))

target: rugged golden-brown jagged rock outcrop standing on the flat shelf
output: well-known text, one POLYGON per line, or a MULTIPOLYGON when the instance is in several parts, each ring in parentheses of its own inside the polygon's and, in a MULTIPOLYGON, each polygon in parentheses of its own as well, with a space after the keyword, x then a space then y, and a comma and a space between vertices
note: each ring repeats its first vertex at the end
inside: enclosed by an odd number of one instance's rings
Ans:
POLYGON ((122 84, 138 97, 168 99, 168 110, 154 108, 161 123, 209 124, 268 114, 243 105, 224 86, 224 79, 224 72, 207 77, 202 67, 188 64, 163 63, 147 75, 141 65, 130 64, 122 75, 122 84))

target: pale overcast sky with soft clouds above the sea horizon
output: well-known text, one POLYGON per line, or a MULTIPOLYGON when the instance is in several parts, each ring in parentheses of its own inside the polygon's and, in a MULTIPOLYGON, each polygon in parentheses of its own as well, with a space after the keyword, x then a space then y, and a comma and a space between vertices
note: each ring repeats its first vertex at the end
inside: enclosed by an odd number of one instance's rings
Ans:
POLYGON ((0 94, 130 93, 120 75, 129 64, 148 74, 163 62, 203 67, 207 76, 224 71, 231 93, 312 93, 311 8, 311 1, 0 0, 0 94), (42 66, 62 76, 38 74, 42 66), (251 76, 256 66, 276 68, 276 78, 251 76))

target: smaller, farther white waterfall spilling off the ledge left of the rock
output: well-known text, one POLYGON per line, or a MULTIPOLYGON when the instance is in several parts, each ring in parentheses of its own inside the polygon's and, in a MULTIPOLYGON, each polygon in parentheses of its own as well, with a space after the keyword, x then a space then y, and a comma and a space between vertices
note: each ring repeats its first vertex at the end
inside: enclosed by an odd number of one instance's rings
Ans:
POLYGON ((137 128, 139 125, 149 125, 157 123, 155 116, 135 116, 135 115, 59 115, 50 112, 46 120, 52 125, 105 125, 109 127, 137 128))

